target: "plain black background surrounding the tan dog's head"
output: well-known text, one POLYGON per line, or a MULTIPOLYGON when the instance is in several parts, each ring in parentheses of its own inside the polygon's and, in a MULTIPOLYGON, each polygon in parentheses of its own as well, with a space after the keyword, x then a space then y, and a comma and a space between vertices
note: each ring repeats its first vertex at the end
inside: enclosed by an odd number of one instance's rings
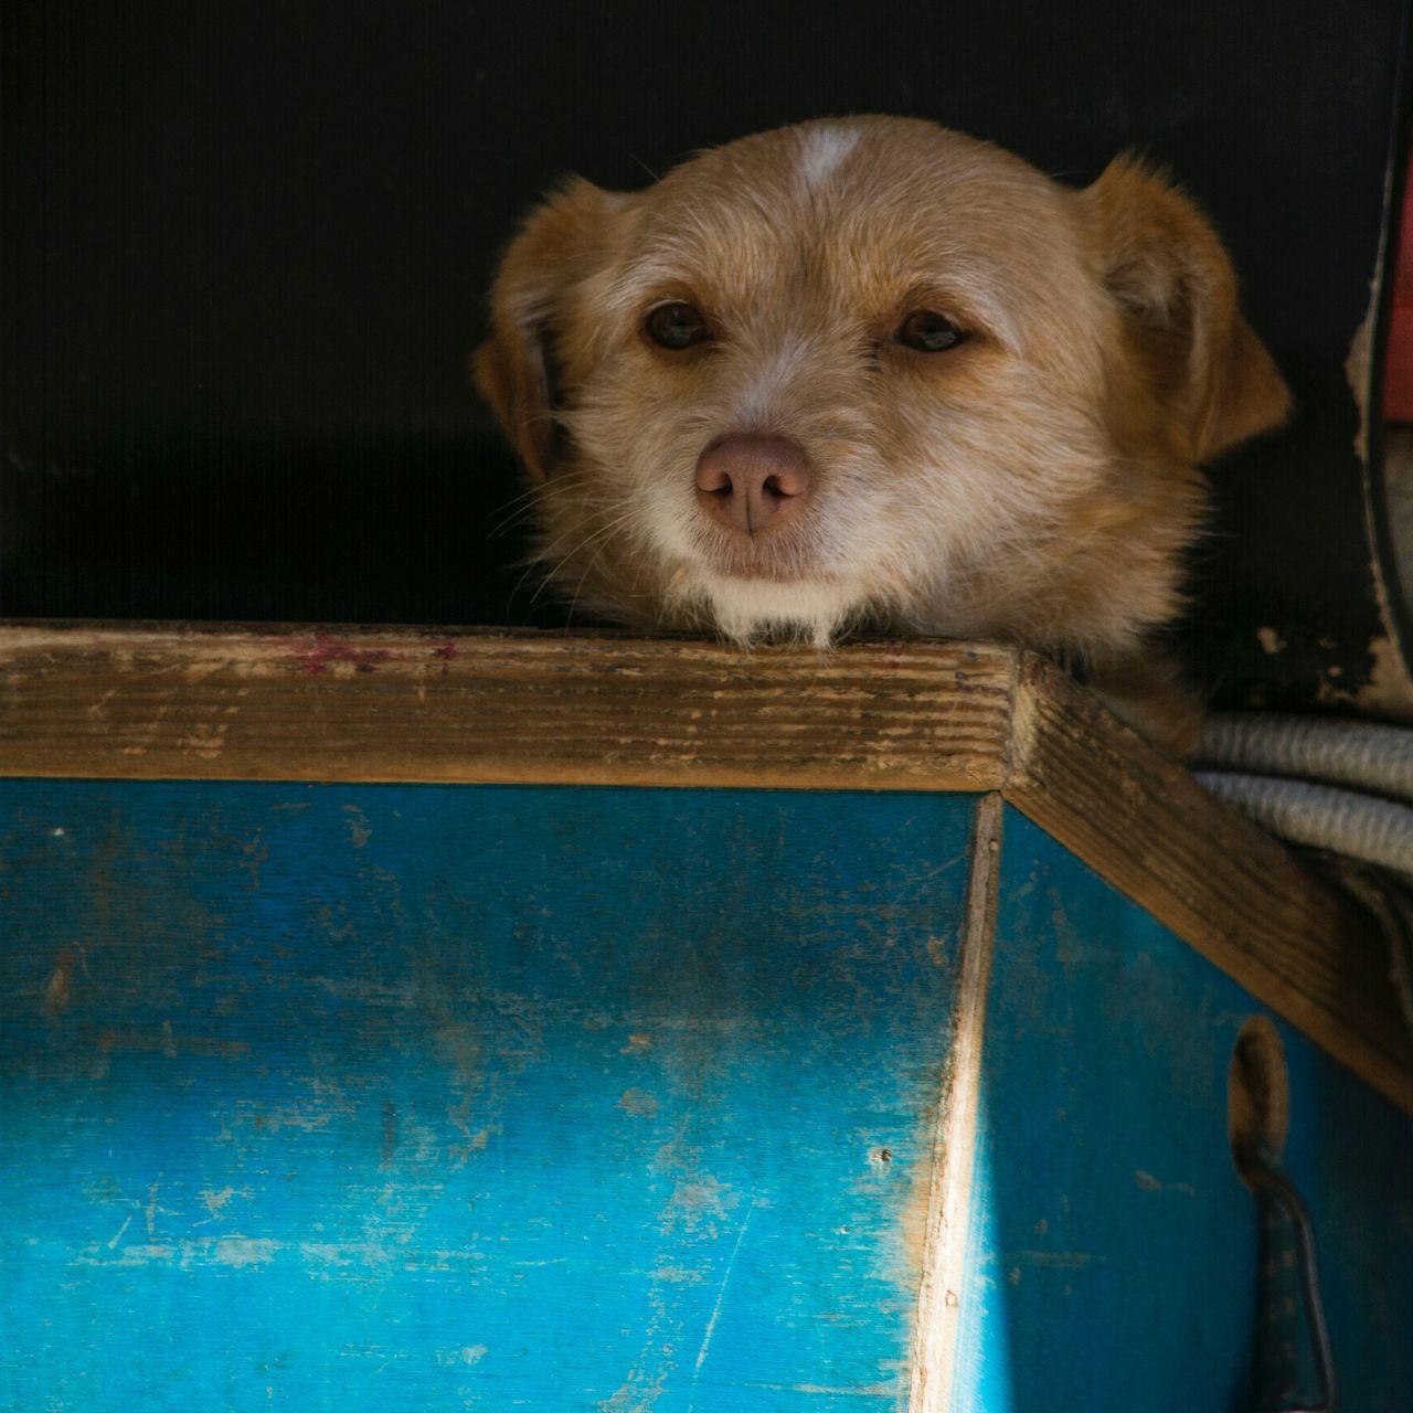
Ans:
POLYGON ((889 112, 1074 182, 1140 147, 1207 206, 1300 413, 1215 468, 1188 647, 1225 699, 1356 687, 1344 360, 1405 8, 4 0, 0 613, 562 623, 517 589, 514 466, 466 374, 517 215, 567 171, 637 187, 889 112))

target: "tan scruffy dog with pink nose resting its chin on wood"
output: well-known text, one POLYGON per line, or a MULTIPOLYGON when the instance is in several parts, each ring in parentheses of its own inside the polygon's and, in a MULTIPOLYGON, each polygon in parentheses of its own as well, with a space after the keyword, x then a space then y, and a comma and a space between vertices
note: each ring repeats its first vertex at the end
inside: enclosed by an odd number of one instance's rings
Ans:
POLYGON ((632 627, 995 637, 1184 749, 1153 649, 1197 466, 1289 394, 1201 212, 1128 158, 1074 191, 931 123, 801 123, 633 195, 572 181, 476 377, 538 552, 632 627))

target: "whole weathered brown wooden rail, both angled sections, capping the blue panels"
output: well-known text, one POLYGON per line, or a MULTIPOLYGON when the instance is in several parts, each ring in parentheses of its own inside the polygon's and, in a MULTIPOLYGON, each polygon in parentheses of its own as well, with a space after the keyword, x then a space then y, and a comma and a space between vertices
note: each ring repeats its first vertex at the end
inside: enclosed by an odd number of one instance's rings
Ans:
POLYGON ((0 681, 0 776, 995 791, 1413 1112, 1365 914, 1015 649, 10 623, 0 681))

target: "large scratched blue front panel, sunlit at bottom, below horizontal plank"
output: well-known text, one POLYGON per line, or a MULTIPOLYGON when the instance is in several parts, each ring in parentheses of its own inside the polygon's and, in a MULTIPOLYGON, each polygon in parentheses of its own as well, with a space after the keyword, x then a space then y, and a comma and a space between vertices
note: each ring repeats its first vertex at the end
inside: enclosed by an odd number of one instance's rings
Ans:
POLYGON ((968 800, 0 820, 0 1407, 904 1406, 968 800))

